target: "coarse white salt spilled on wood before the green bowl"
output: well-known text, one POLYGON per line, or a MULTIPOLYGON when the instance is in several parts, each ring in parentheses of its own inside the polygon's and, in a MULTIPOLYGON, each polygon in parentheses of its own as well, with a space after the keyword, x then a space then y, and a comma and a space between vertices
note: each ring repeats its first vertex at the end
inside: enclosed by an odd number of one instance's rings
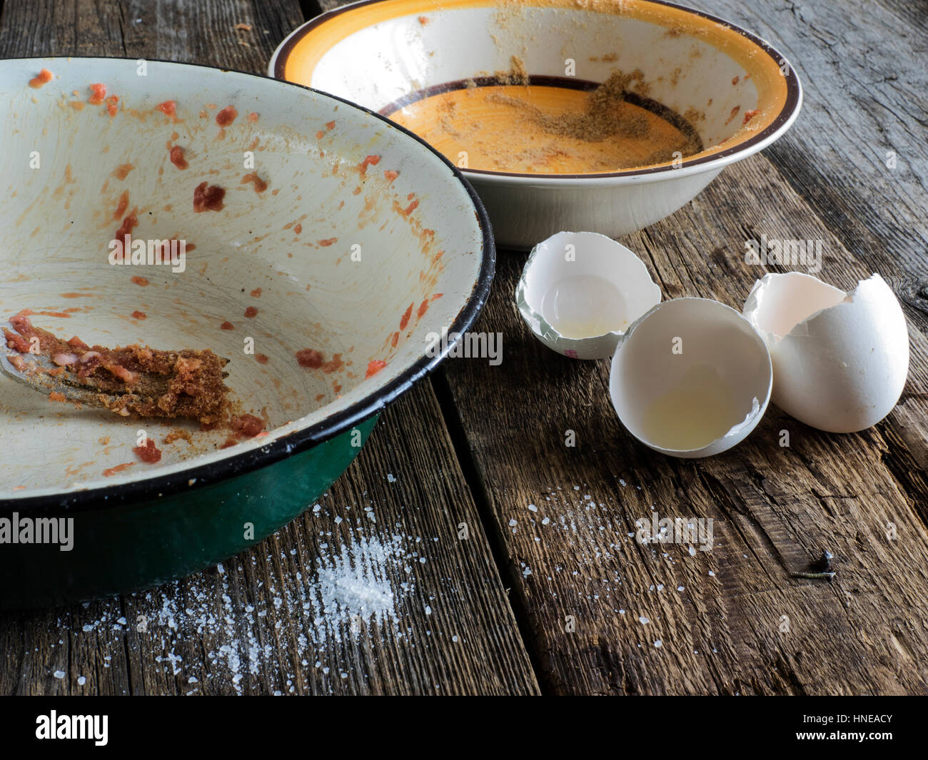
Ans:
MULTIPOLYGON (((415 589, 415 564, 425 560, 419 551, 406 550, 404 535, 364 535, 362 530, 358 520, 353 531, 342 534, 342 545, 335 551, 329 550, 329 543, 320 544, 310 578, 291 572, 286 563, 292 558, 281 552, 278 559, 284 572, 253 589, 253 604, 233 599, 229 573, 219 564, 218 573, 199 573, 184 582, 130 595, 132 622, 122 617, 120 599, 104 599, 72 608, 56 625, 75 637, 96 635, 104 650, 119 651, 124 646, 144 652, 166 676, 187 686, 187 694, 197 693, 205 686, 201 680, 214 676, 227 678, 241 693, 248 674, 264 672, 280 673, 284 688, 293 691, 296 674, 278 662, 280 652, 270 641, 295 641, 301 664, 294 669, 316 669, 328 676, 327 663, 336 659, 330 653, 343 641, 406 635, 399 626, 399 607, 415 589), (133 637, 127 637, 130 628, 135 629, 133 637), (185 663, 178 653, 198 638, 210 643, 205 672, 199 658, 185 663)), ((331 533, 320 535, 328 538, 331 533)), ((268 564, 275 559, 266 558, 268 564)), ((257 563, 253 555, 251 563, 257 563)), ((238 578, 242 577, 239 572, 238 578)), ((58 646, 64 644, 63 638, 58 641, 58 646)), ((104 659, 109 667, 110 657, 104 659)), ((56 678, 64 676, 64 671, 55 672, 56 678)), ((333 672, 333 676, 348 674, 333 672)))

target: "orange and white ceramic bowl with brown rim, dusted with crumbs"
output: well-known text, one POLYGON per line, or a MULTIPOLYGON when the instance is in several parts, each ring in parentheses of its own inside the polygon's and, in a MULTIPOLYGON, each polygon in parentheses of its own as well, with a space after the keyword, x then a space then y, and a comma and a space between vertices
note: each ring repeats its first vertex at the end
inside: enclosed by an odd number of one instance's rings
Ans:
POLYGON ((521 248, 562 229, 615 237, 656 222, 776 140, 802 101, 793 68, 763 40, 649 0, 367 0, 303 24, 269 68, 424 136, 476 187, 497 243, 521 248), (695 135, 695 152, 647 162, 639 150, 644 163, 610 170, 577 165, 576 142, 558 138, 566 161, 499 161, 530 153, 539 135, 491 101, 522 94, 563 112, 616 71, 628 77, 627 102, 695 135), (500 90, 499 72, 512 86, 500 90))

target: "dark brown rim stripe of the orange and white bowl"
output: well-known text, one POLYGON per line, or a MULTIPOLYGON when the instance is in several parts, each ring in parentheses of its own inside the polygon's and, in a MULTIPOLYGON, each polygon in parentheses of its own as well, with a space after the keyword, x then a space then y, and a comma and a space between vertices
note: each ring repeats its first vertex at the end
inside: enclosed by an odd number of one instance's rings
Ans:
MULTIPOLYGON (((290 57, 290 52, 292 49, 303 39, 306 34, 312 32, 316 29, 317 26, 320 26, 330 19, 333 19, 336 16, 339 16, 342 13, 348 13, 358 8, 364 6, 370 6, 374 3, 384 3, 389 2, 389 0, 361 0, 358 3, 352 3, 350 6, 342 6, 334 8, 327 11, 326 13, 316 16, 315 19, 310 19, 303 24, 303 26, 298 27, 295 32, 292 33, 290 38, 280 46, 277 50, 277 59, 274 62, 274 76, 276 79, 283 79, 286 81, 286 76, 284 72, 287 68, 287 58, 290 57)), ((744 29, 741 29, 740 26, 736 26, 731 22, 720 19, 718 16, 713 16, 711 13, 704 13, 702 10, 696 10, 690 6, 681 6, 677 3, 670 3, 666 0, 648 0, 648 2, 654 3, 658 6, 667 6, 672 8, 677 8, 678 10, 685 11, 692 14, 693 16, 699 16, 702 19, 708 19, 714 21, 716 24, 725 27, 726 29, 731 30, 732 32, 737 32, 741 34, 742 37, 750 40, 760 47, 767 56, 769 56, 778 67, 781 67, 784 63, 787 64, 787 73, 785 75, 786 79, 786 101, 783 103, 783 108, 780 109, 780 113, 777 114, 773 122, 767 124, 767 127, 762 129, 753 137, 749 137, 743 142, 739 143, 734 148, 726 148, 725 150, 720 150, 717 153, 713 153, 711 156, 702 156, 698 159, 685 159, 678 167, 675 166, 651 166, 645 169, 626 169, 623 172, 605 172, 599 174, 527 174, 521 172, 491 172, 485 169, 463 169, 461 170, 464 174, 480 174, 480 175, 495 175, 501 177, 522 177, 525 179, 534 179, 538 182, 544 182, 546 179, 552 180, 561 180, 561 179, 598 179, 605 177, 626 177, 626 176, 639 176, 645 174, 662 174, 665 172, 678 172, 680 169, 686 169, 690 166, 698 166, 702 163, 709 163, 711 161, 718 161, 719 159, 728 158, 728 156, 734 156, 738 153, 743 152, 748 148, 752 148, 758 143, 764 142, 771 135, 775 135, 780 131, 780 128, 793 118, 796 107, 799 104, 800 93, 802 88, 799 85, 799 79, 796 77, 795 71, 793 71, 792 64, 789 64, 786 57, 783 56, 780 51, 771 45, 767 45, 764 40, 758 37, 756 34, 748 32, 744 29)))

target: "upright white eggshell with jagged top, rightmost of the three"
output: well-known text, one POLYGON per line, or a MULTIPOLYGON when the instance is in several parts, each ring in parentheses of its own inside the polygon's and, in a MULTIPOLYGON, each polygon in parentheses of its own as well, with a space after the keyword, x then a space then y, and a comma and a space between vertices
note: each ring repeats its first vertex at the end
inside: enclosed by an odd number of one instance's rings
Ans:
POLYGON ((743 314, 773 358, 773 403, 827 432, 857 432, 892 411, 909 374, 909 330, 873 275, 844 292, 790 272, 754 283, 743 314))

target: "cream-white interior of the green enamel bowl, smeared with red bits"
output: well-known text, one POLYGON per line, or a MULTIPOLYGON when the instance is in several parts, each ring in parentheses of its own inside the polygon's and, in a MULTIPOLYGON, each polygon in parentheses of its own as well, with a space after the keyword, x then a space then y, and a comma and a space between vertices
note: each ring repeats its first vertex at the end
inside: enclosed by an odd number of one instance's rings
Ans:
POLYGON ((335 98, 180 64, 148 62, 138 76, 134 60, 98 58, 3 61, 0 90, 0 323, 31 309, 36 327, 89 344, 210 348, 230 359, 238 409, 263 416, 269 431, 219 449, 224 431, 78 410, 0 376, 0 498, 176 472, 357 408, 408 376, 426 336, 453 322, 480 277, 483 232, 468 189, 418 140, 335 98), (41 67, 55 78, 32 89, 41 67), (114 117, 85 102, 97 82, 120 97, 114 117), (168 99, 176 122, 156 109, 168 99), (215 116, 229 105, 238 117, 221 129, 215 116), (186 170, 169 160, 171 145, 186 149, 186 170), (362 176, 368 155, 380 162, 362 176), (133 168, 120 179, 125 164, 133 168), (242 182, 250 173, 264 192, 242 182), (222 211, 194 213, 203 181, 226 188, 222 211), (184 272, 109 264, 123 192, 127 211, 137 207, 134 238, 194 246, 184 272), (257 316, 244 316, 249 306, 257 316), (234 329, 221 329, 225 321, 234 329), (245 352, 246 339, 266 364, 245 352), (304 369, 303 348, 341 363, 304 369), (366 379, 371 361, 386 366, 366 379), (178 427, 190 441, 162 444, 178 427), (139 430, 164 452, 160 463, 137 461, 139 430))

